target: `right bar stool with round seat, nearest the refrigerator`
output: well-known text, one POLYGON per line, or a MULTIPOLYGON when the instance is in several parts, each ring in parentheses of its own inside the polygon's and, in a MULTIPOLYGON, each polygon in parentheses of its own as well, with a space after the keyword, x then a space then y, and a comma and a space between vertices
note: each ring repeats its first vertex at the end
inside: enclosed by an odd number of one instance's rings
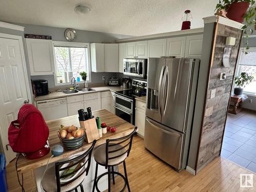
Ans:
POLYGON ((113 179, 113 184, 115 184, 115 177, 114 174, 117 174, 122 177, 124 180, 124 186, 121 191, 124 191, 124 189, 127 186, 128 191, 130 192, 130 186, 129 181, 127 177, 126 172, 126 165, 125 165, 125 159, 129 156, 131 148, 132 148, 132 142, 133 142, 133 136, 137 131, 137 126, 134 128, 133 132, 130 133, 127 136, 118 138, 118 139, 106 139, 105 144, 99 145, 95 151, 94 151, 94 159, 96 161, 96 170, 95 170, 95 178, 93 183, 93 192, 96 188, 98 192, 100 190, 98 189, 98 181, 100 178, 108 174, 108 191, 111 191, 111 174, 113 179), (122 145, 121 145, 122 144, 122 145), (114 166, 119 165, 123 163, 123 169, 124 169, 124 176, 118 172, 114 172, 114 166), (98 165, 105 166, 105 169, 108 169, 108 172, 101 174, 97 178, 97 172, 98 172, 98 165), (112 171, 111 171, 112 168, 112 171))

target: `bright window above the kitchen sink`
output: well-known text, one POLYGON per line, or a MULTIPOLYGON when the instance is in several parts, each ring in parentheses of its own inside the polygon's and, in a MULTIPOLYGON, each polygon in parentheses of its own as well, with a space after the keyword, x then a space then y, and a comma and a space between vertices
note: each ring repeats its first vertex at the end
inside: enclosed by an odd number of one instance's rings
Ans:
POLYGON ((77 42, 53 42, 55 63, 55 85, 70 84, 75 77, 77 83, 84 82, 80 72, 87 72, 87 82, 91 80, 90 44, 77 42))

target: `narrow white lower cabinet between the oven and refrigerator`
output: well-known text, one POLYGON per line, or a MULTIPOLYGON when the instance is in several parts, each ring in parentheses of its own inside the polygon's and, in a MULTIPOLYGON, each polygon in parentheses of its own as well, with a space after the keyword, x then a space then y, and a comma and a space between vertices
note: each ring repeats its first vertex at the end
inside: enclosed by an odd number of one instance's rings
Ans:
POLYGON ((145 130, 145 116, 146 116, 145 103, 142 101, 136 100, 135 126, 138 127, 138 134, 143 138, 144 138, 144 130, 145 130))

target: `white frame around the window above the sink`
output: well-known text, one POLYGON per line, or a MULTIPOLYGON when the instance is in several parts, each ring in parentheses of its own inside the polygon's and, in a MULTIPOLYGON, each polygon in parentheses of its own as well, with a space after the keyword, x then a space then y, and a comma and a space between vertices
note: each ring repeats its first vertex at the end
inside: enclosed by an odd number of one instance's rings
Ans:
POLYGON ((90 43, 88 42, 67 42, 67 41, 52 41, 52 47, 53 47, 53 58, 54 58, 54 84, 55 86, 67 86, 70 85, 70 82, 63 82, 63 83, 58 83, 57 82, 57 64, 56 64, 56 58, 55 58, 55 50, 54 50, 54 46, 87 46, 87 54, 88 54, 88 76, 89 76, 89 80, 84 81, 81 80, 79 83, 85 83, 85 82, 91 82, 92 81, 92 73, 91 73, 91 54, 90 54, 90 43))

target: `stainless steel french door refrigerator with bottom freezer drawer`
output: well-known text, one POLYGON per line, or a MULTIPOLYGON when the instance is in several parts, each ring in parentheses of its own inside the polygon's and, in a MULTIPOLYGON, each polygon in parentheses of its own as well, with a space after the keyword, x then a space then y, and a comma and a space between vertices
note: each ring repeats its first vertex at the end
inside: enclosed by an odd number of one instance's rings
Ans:
POLYGON ((149 58, 144 146, 176 170, 185 168, 199 59, 149 58))

